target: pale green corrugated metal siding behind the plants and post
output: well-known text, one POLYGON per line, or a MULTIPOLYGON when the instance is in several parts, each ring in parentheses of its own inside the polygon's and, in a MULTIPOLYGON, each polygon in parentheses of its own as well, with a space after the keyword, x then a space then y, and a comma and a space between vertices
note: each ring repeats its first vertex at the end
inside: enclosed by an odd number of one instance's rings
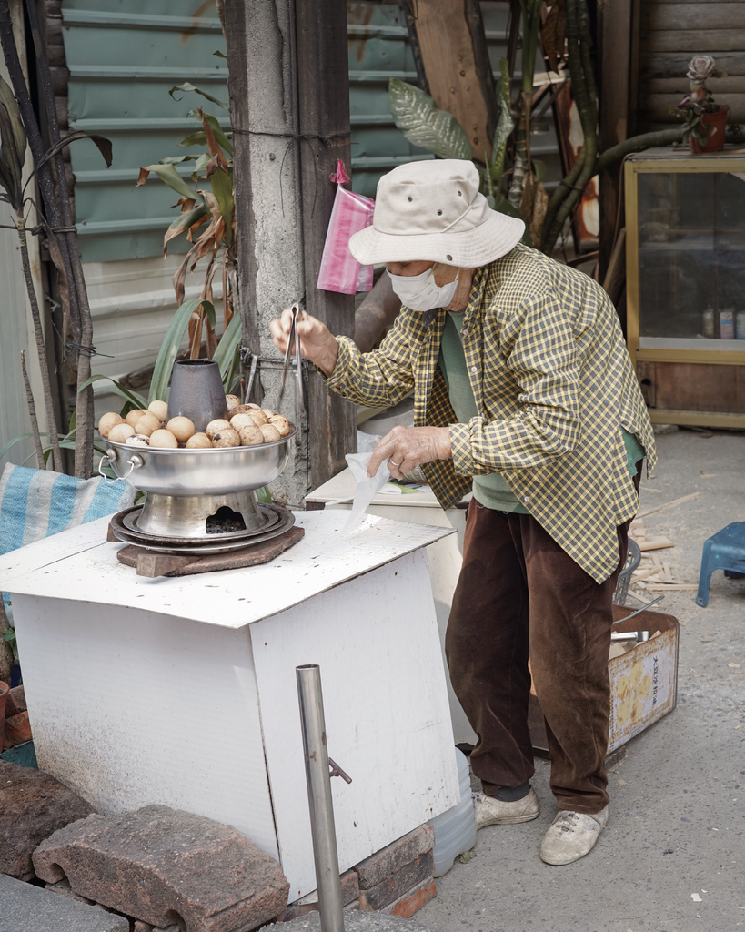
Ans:
MULTIPOLYGON (((495 69, 507 54, 508 7, 507 2, 482 4, 495 69)), ((227 123, 225 111, 194 93, 181 95, 180 101, 169 96, 170 88, 189 81, 227 100, 226 62, 213 54, 224 52, 214 6, 210 0, 63 0, 62 18, 70 128, 101 133, 114 144, 111 169, 103 167, 92 144, 71 146, 83 259, 157 255, 176 195, 153 176, 135 189, 140 167, 199 151, 178 145, 198 129, 196 120, 186 116, 197 105, 227 123), (192 15, 184 16, 185 10, 192 15)), ((349 3, 347 23, 352 187, 373 196, 381 174, 412 158, 431 156, 407 142, 388 108, 389 78, 416 83, 400 7, 349 3)), ((547 162, 555 184, 560 172, 552 121, 534 127, 532 152, 547 162)), ((178 170, 188 174, 192 164, 178 170)), ((178 242, 169 245, 170 251, 178 248, 178 242)))

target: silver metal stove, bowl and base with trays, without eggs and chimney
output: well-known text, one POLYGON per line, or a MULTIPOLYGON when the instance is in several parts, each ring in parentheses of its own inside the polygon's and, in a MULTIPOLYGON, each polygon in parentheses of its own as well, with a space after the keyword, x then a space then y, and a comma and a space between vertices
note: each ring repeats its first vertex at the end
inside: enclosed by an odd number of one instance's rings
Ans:
POLYGON ((279 440, 212 449, 109 441, 99 472, 108 462, 116 479, 107 481, 145 493, 141 505, 113 516, 111 533, 147 550, 182 555, 242 550, 284 534, 294 524, 291 511, 259 502, 256 489, 285 468, 296 433, 292 427, 279 440))

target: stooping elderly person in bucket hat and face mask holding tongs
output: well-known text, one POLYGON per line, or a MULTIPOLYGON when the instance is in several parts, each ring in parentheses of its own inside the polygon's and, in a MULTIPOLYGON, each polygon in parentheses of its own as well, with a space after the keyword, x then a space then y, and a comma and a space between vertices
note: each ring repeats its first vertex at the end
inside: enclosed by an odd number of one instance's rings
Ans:
MULTIPOLYGON (((443 507, 472 490, 445 651, 478 735, 477 827, 538 815, 532 671, 559 809, 540 856, 568 864, 608 819, 611 599, 654 436, 608 297, 523 246, 522 221, 491 210, 479 181, 452 159, 381 179, 373 226, 349 243, 386 264, 403 305, 380 349, 363 354, 308 315, 297 330, 350 401, 413 391, 415 426, 383 437, 371 475, 384 459, 395 478, 421 466, 443 507)), ((289 328, 287 312, 271 324, 279 349, 289 328)))

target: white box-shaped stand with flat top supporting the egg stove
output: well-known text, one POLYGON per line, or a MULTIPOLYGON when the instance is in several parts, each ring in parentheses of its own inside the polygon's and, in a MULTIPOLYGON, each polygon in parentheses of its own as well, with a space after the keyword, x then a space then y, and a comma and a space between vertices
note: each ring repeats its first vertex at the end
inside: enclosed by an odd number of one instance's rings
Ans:
POLYGON ((459 800, 425 548, 448 528, 301 512, 264 566, 147 579, 107 519, 0 558, 39 766, 103 813, 235 826, 316 888, 295 666, 320 666, 346 870, 459 800))

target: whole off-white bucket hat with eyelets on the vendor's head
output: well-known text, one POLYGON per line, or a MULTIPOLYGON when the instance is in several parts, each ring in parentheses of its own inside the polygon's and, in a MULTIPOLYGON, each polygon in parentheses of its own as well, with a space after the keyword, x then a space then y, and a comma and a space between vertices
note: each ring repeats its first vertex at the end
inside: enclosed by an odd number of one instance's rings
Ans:
POLYGON ((479 171, 461 158, 408 162, 377 186, 373 226, 349 239, 359 263, 442 262, 474 268, 508 254, 525 225, 493 211, 479 192, 479 171))

